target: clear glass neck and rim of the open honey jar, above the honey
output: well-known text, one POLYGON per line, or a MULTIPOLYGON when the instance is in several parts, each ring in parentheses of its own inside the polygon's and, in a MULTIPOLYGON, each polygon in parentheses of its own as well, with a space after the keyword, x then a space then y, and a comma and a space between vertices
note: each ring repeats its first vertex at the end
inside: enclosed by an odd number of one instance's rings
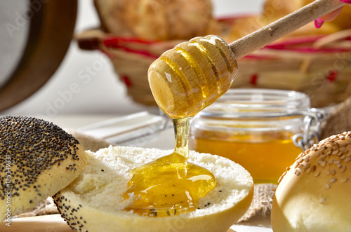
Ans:
POLYGON ((298 116, 310 109, 310 97, 291 90, 230 89, 199 113, 201 117, 267 118, 298 116))

